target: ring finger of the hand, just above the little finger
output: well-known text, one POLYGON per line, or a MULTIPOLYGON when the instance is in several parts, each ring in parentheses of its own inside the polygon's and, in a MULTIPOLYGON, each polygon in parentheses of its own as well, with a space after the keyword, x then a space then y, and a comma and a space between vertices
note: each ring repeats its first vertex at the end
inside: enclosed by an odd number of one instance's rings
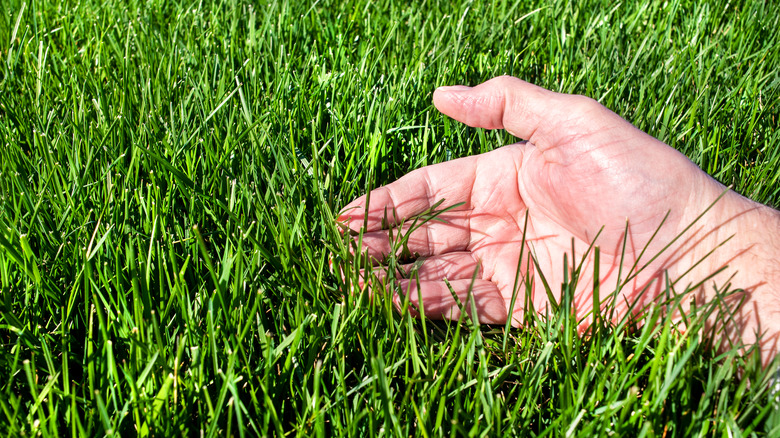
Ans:
MULTIPOLYGON (((402 278, 414 278, 420 281, 433 280, 470 280, 482 277, 482 268, 474 256, 468 251, 451 252, 439 256, 421 258, 414 263, 400 266, 400 272, 395 272, 402 278)), ((374 268, 369 281, 385 281, 389 274, 387 268, 374 268)), ((361 271, 360 287, 363 287, 364 273, 361 271)))

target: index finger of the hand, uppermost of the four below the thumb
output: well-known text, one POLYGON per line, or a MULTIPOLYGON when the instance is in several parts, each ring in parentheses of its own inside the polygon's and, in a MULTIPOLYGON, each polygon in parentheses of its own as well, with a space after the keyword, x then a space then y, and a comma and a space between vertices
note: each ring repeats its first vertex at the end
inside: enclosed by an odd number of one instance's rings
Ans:
POLYGON ((441 208, 465 203, 458 209, 468 209, 476 163, 476 157, 465 157, 409 172, 350 202, 337 219, 352 231, 360 230, 364 222, 367 231, 375 231, 421 214, 438 201, 441 208))

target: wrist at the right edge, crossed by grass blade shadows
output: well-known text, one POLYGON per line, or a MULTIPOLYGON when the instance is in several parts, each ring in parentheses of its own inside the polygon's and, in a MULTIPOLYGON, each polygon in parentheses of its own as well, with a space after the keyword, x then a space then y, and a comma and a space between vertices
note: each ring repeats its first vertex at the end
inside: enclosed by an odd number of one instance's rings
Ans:
POLYGON ((678 269, 677 289, 697 286, 697 306, 736 291, 708 318, 707 331, 721 348, 758 343, 767 364, 780 336, 780 212, 729 191, 700 220, 684 239, 690 259, 679 265, 695 267, 678 269))

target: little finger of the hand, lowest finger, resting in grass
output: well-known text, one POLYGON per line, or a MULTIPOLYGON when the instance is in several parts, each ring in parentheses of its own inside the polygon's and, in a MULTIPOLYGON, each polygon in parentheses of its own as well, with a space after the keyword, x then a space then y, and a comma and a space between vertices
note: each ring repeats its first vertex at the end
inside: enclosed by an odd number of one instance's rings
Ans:
POLYGON ((490 281, 453 280, 449 282, 449 286, 444 281, 420 281, 419 289, 417 285, 416 280, 401 280, 400 286, 403 296, 395 295, 393 297, 398 308, 403 306, 408 297, 410 303, 413 304, 409 307, 409 311, 415 316, 418 316, 422 311, 426 317, 431 319, 459 320, 461 307, 452 296, 452 292, 454 292, 463 309, 468 311, 469 315, 477 319, 480 324, 503 324, 507 317, 512 318, 512 325, 515 326, 522 321, 519 311, 510 314, 507 310, 507 303, 498 287, 490 281), (450 287, 452 287, 452 292, 450 287), (473 309, 469 299, 469 291, 474 296, 473 309))

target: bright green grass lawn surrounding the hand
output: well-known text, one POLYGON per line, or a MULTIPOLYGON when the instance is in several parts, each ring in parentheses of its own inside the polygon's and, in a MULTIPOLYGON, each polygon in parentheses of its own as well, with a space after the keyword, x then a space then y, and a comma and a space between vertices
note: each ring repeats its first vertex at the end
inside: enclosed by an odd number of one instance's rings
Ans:
POLYGON ((431 105, 499 74, 776 205, 778 5, 404 3, 0 0, 0 433, 780 434, 755 362, 661 307, 588 337, 565 305, 417 320, 343 292, 333 222, 512 141, 431 105))

